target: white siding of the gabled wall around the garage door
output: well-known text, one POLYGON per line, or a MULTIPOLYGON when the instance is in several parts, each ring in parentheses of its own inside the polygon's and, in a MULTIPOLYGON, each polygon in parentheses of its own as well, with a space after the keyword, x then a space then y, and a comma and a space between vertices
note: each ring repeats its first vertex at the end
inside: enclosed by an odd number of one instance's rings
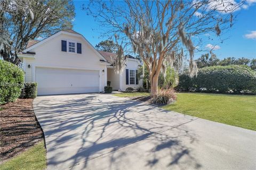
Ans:
POLYGON ((102 70, 105 69, 105 65, 100 64, 100 58, 97 56, 97 52, 94 52, 92 47, 90 47, 83 38, 60 34, 44 44, 31 49, 30 52, 35 52, 36 55, 35 58, 24 58, 25 63, 31 66, 30 69, 26 68, 27 82, 36 81, 36 67, 95 70, 98 72, 98 80, 101 82, 99 87, 101 88, 100 91, 103 91, 105 81, 107 81, 104 78, 105 75, 102 73, 102 70), (75 53, 62 52, 61 40, 67 40, 67 52, 69 40, 81 43, 82 55, 77 55, 76 51, 75 53))

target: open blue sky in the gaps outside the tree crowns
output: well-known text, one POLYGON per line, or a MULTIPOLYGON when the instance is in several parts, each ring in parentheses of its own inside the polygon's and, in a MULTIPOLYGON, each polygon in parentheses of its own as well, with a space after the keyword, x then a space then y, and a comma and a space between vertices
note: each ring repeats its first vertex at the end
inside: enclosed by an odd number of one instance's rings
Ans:
MULTIPOLYGON (((92 16, 86 15, 81 9, 81 5, 86 2, 74 1, 76 17, 74 20, 74 30, 81 33, 93 46, 98 44, 100 38, 99 25, 94 21, 92 16)), ((210 43, 219 49, 214 50, 218 58, 225 57, 246 57, 256 58, 256 0, 249 0, 247 6, 237 11, 236 22, 231 30, 225 35, 229 37, 223 44, 213 42, 210 43), (254 31, 254 32, 253 32, 254 31)), ((201 53, 196 53, 198 58, 201 53)))

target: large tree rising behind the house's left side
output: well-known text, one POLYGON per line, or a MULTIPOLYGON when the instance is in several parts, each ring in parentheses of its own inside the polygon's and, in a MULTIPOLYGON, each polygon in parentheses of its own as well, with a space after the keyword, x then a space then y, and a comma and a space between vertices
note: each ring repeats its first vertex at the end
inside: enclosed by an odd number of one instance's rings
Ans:
POLYGON ((74 10, 73 2, 68 0, 0 1, 1 57, 18 65, 17 53, 26 48, 29 39, 72 28, 74 10))

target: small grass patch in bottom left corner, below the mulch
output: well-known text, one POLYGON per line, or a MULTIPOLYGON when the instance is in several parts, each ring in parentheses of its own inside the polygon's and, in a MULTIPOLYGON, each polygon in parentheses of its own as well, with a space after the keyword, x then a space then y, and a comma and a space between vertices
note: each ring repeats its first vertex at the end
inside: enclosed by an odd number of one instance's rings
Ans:
POLYGON ((44 142, 39 142, 29 150, 3 163, 0 165, 0 169, 46 169, 46 151, 44 148, 44 142))

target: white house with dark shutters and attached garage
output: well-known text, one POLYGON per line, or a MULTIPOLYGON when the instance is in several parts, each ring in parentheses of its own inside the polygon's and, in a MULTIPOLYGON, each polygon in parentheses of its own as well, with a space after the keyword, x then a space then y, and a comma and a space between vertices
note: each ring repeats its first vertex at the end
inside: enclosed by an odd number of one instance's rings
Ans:
POLYGON ((102 92, 111 82, 114 90, 142 86, 141 63, 129 56, 122 74, 111 65, 114 53, 95 49, 80 33, 60 31, 42 41, 30 40, 19 53, 26 82, 37 82, 38 95, 102 92))

